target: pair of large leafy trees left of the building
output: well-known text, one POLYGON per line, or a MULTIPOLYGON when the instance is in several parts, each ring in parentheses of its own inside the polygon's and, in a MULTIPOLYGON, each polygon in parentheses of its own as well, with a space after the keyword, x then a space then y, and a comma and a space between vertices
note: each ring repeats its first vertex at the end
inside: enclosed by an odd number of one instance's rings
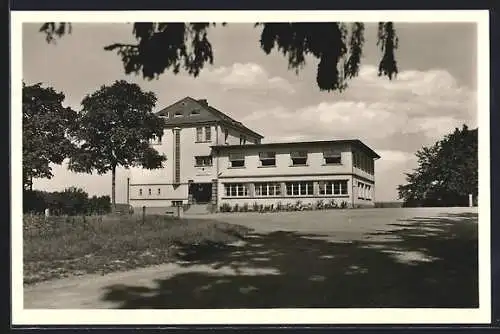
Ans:
POLYGON ((156 96, 126 81, 102 86, 83 98, 82 109, 63 106, 64 94, 41 84, 23 83, 23 186, 51 178, 51 164, 68 160, 75 172, 111 171, 111 202, 116 206, 116 168, 161 168, 165 156, 149 145, 163 134, 153 113, 156 96))

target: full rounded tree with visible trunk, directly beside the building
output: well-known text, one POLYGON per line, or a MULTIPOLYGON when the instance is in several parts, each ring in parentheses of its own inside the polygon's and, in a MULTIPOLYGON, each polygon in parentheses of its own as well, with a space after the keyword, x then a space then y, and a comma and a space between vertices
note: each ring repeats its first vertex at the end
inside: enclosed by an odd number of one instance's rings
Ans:
POLYGON ((149 145, 163 135, 163 120, 153 114, 156 96, 133 83, 120 80, 101 86, 82 100, 73 136, 77 141, 69 169, 105 174, 111 171, 111 203, 116 208, 116 168, 162 167, 166 159, 149 145))

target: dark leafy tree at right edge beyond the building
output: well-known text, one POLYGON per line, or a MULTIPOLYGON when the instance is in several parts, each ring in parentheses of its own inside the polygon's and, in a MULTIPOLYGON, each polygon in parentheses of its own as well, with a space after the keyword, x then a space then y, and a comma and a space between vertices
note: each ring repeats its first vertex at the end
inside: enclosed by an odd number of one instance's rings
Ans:
POLYGON ((407 206, 467 205, 478 194, 477 129, 466 125, 416 153, 418 167, 398 187, 407 206))

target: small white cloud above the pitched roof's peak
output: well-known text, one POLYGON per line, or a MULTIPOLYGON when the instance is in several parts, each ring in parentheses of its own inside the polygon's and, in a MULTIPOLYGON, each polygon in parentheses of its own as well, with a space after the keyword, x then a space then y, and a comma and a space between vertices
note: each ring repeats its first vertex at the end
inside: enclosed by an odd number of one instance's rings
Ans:
POLYGON ((220 84, 227 90, 277 90, 288 94, 295 92, 290 82, 281 77, 270 76, 262 66, 255 63, 234 63, 229 67, 204 70, 200 78, 220 84))

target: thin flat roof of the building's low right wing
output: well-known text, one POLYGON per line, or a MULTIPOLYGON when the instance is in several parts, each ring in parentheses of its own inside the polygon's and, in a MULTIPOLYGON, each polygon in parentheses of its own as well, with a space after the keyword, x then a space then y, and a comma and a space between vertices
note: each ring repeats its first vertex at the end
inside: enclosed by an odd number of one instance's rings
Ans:
POLYGON ((370 147, 368 147, 365 143, 363 143, 359 139, 274 142, 274 143, 244 144, 244 145, 214 145, 212 146, 212 148, 215 150, 226 150, 226 149, 294 147, 294 146, 314 146, 314 145, 338 145, 338 144, 354 145, 368 152, 373 158, 375 159, 380 158, 380 155, 378 155, 374 150, 372 150, 370 147))

